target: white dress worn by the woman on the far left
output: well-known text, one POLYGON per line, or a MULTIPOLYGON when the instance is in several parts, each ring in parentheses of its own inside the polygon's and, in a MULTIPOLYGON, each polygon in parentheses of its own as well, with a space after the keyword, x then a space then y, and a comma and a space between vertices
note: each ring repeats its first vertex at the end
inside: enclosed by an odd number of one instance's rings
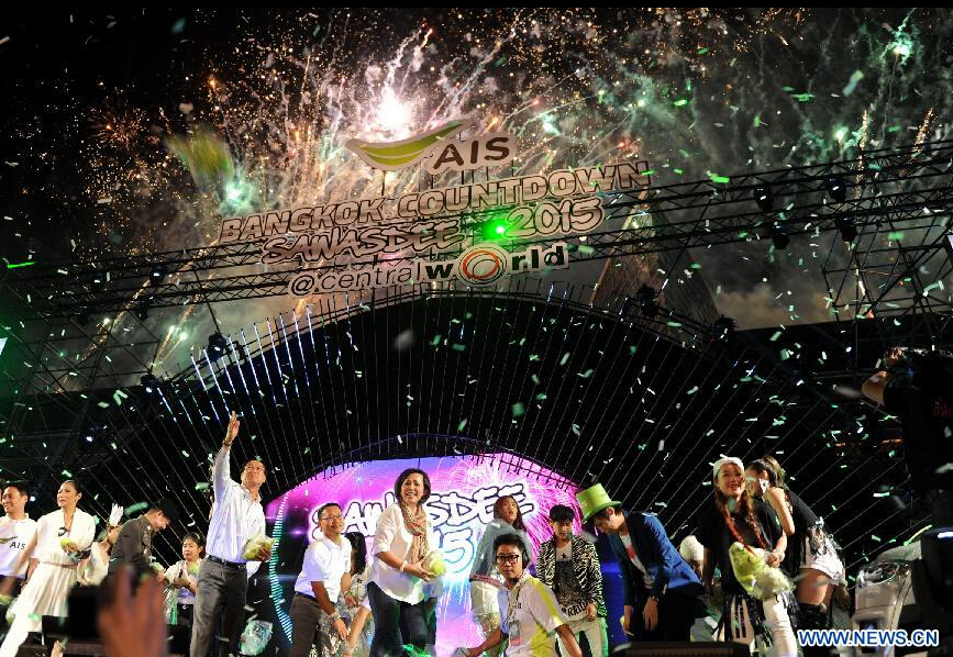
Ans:
POLYGON ((0 657, 15 657, 16 649, 31 632, 40 632, 43 616, 65 616, 66 599, 76 583, 76 560, 63 552, 60 538, 70 538, 80 550, 89 549, 96 533, 95 519, 77 509, 67 533, 63 510, 47 513, 36 522, 36 549, 40 559, 33 576, 13 606, 10 632, 0 646, 0 657))

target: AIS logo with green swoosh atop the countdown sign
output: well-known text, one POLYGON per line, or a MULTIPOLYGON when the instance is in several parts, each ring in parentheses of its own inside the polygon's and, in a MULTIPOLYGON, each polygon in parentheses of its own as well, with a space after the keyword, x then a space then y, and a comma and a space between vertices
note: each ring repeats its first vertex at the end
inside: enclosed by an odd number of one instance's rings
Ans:
POLYGON ((472 171, 512 162, 517 141, 512 133, 492 132, 472 140, 456 140, 465 130, 475 127, 472 119, 454 119, 431 131, 400 142, 372 143, 347 140, 344 144, 375 169, 402 171, 429 158, 426 172, 472 171))

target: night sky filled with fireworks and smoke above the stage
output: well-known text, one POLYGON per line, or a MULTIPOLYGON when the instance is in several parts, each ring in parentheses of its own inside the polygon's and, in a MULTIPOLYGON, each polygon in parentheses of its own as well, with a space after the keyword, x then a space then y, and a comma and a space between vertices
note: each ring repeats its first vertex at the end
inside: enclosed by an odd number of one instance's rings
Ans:
MULTIPOLYGON (((373 193, 379 178, 347 137, 401 138, 463 114, 519 135, 518 174, 646 159, 657 185, 943 138, 950 32, 949 12, 929 9, 8 16, 2 244, 40 263, 211 244, 223 216, 373 193), (228 179, 184 165, 169 138, 196 134, 224 144, 228 179)), ((831 247, 824 235, 691 256, 718 309, 758 327, 832 319, 831 247)), ((290 304, 219 319, 231 331, 290 304)))

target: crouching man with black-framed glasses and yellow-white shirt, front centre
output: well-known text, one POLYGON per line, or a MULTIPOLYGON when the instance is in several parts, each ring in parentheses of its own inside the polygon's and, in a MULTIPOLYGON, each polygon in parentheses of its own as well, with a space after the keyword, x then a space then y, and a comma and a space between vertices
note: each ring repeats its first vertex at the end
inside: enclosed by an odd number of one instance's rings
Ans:
POLYGON ((525 570, 530 555, 522 539, 517 534, 497 536, 494 553, 506 580, 497 597, 500 626, 478 647, 468 648, 467 657, 478 657, 503 641, 509 641, 507 657, 557 657, 556 634, 566 648, 564 657, 583 657, 553 591, 525 570))

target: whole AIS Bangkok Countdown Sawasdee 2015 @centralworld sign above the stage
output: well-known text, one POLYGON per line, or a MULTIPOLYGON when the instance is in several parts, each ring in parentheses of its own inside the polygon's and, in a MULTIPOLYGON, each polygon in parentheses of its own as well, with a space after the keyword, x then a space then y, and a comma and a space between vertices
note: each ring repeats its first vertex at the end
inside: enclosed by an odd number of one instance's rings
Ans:
MULTIPOLYGON (((409 140, 348 140, 347 147, 375 168, 398 171, 423 164, 434 176, 512 162, 517 147, 510 133, 455 138, 473 125, 458 119, 409 140)), ((231 218, 222 222, 219 243, 261 243, 264 265, 322 265, 323 276, 306 270, 291 280, 289 292, 296 297, 454 280, 491 285, 511 274, 567 268, 568 244, 502 256, 487 236, 467 246, 467 227, 491 220, 500 235, 489 238, 516 244, 534 236, 585 234, 606 219, 602 194, 647 186, 646 168, 646 163, 620 162, 231 218), (452 257, 440 257, 447 252, 452 257), (408 257, 413 258, 410 265, 408 257), (380 261, 348 265, 345 258, 380 261), (328 265, 334 270, 328 271, 328 265)))

